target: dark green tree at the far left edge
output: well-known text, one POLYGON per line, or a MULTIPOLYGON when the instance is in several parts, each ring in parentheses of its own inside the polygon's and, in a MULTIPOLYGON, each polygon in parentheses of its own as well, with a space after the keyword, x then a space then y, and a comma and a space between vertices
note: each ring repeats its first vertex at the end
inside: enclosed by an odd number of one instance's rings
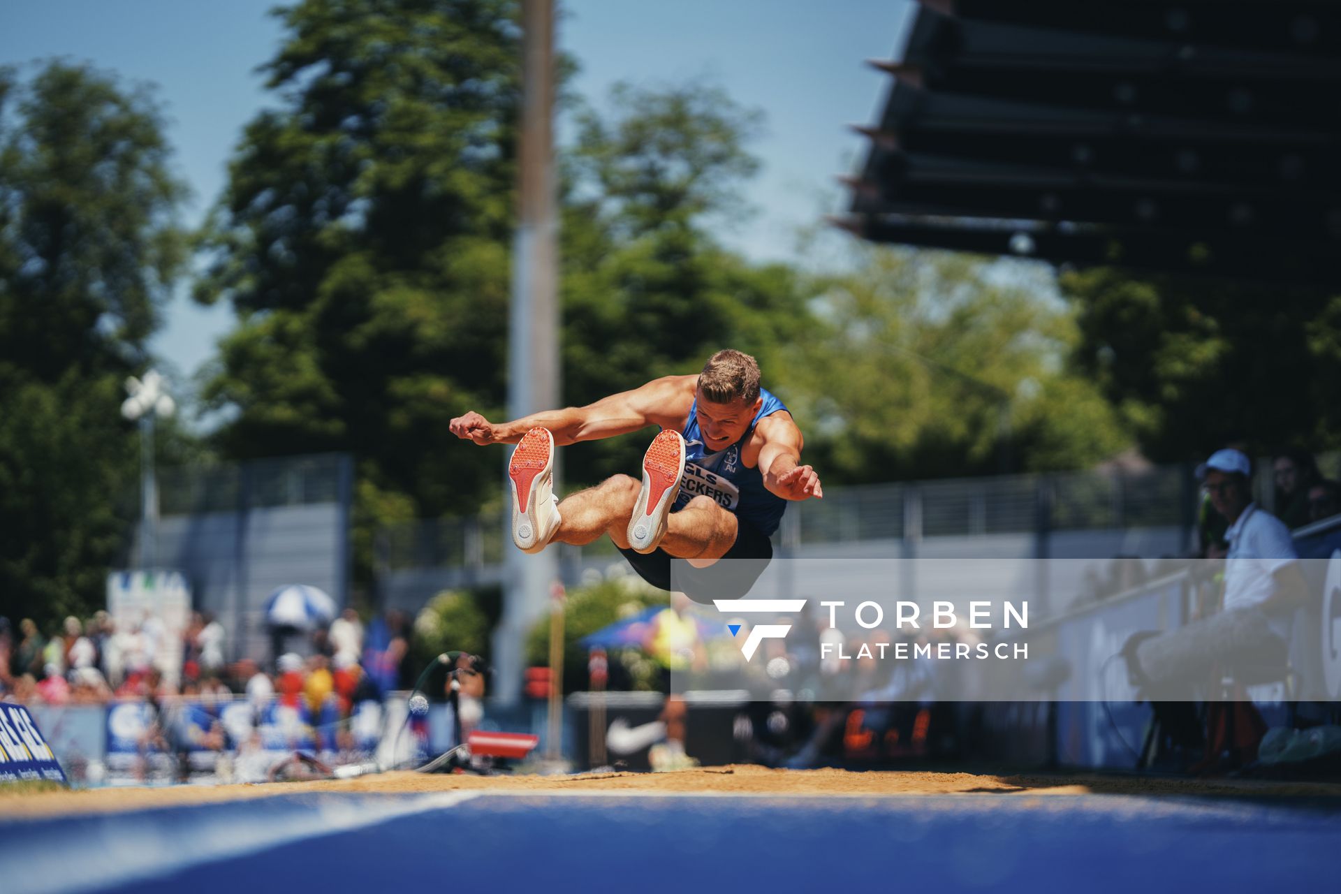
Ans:
POLYGON ((30 83, 0 70, 0 614, 99 604, 125 543, 122 382, 185 256, 162 130, 148 88, 63 62, 30 83))

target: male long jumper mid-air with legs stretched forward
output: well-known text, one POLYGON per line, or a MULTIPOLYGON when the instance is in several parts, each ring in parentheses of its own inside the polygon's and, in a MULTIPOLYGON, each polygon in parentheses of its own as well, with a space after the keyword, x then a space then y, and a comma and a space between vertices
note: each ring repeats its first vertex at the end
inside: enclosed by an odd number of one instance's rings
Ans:
POLYGON ((602 535, 644 580, 699 600, 740 596, 772 558, 768 537, 787 500, 822 497, 819 476, 801 465, 801 429, 759 386, 759 365, 717 351, 699 375, 668 375, 589 406, 493 424, 479 413, 452 420, 476 444, 516 444, 508 464, 512 540, 526 552, 550 541, 583 544, 602 535), (642 484, 606 478, 559 503, 554 448, 660 425, 642 458, 642 484), (685 559, 670 583, 672 558, 685 559), (711 574, 719 559, 727 562, 711 574))

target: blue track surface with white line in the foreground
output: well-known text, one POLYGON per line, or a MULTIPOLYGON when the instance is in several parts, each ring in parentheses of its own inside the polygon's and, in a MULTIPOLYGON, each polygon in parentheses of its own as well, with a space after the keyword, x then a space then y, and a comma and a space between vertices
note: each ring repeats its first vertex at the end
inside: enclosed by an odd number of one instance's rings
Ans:
POLYGON ((912 885, 937 894, 994 887, 1219 893, 1282 885, 1334 890, 1341 844, 1341 806, 1333 802, 465 797, 295 795, 4 822, 0 866, 40 873, 7 871, 9 882, 34 879, 7 890, 34 891, 373 893, 464 885, 685 894, 912 885), (83 882, 60 882, 54 874, 71 859, 107 869, 83 882))

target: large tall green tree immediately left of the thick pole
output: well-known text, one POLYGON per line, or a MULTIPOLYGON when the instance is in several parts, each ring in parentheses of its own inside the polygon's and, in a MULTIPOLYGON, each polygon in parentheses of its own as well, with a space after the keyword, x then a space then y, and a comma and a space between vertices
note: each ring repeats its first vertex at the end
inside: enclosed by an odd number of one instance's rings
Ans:
POLYGON ((512 0, 304 0, 263 66, 196 296, 231 300, 204 397, 232 457, 347 450, 355 562, 380 523, 469 511, 496 453, 444 449, 504 401, 519 28, 512 0))

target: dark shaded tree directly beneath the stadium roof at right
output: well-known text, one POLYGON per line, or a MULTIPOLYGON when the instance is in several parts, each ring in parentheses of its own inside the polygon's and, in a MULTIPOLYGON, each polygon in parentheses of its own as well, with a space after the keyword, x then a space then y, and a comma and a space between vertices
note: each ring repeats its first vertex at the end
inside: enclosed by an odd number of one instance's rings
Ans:
POLYGON ((1061 285, 1078 367, 1152 458, 1341 446, 1341 296, 1112 268, 1061 285))

